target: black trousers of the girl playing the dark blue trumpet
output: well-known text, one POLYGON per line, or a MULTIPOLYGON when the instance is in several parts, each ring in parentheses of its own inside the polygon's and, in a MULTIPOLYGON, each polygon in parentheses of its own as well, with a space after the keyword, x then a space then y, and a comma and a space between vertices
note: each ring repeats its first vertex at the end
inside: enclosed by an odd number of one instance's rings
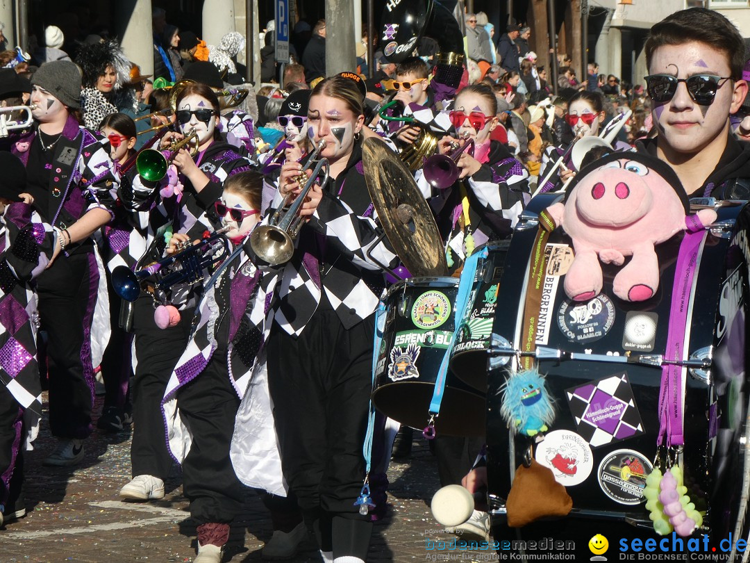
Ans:
POLYGON ((239 403, 222 347, 200 375, 177 391, 180 416, 193 436, 182 462, 182 492, 198 524, 232 522, 242 509, 245 486, 229 459, 239 403))

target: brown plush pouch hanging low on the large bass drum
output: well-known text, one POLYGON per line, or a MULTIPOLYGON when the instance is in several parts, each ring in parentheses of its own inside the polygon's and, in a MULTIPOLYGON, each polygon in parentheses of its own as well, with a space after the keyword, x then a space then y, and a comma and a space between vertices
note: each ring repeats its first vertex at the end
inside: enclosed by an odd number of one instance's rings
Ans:
POLYGON ((550 468, 535 459, 530 467, 518 466, 505 502, 508 526, 520 528, 544 516, 567 516, 572 507, 573 499, 555 480, 550 468))

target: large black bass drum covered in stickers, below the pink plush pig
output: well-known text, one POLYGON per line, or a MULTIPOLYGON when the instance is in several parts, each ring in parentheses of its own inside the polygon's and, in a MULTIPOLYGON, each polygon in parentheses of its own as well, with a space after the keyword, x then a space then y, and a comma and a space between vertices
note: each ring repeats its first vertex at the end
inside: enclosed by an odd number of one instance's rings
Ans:
MULTIPOLYGON (((506 346, 520 342, 525 330, 520 319, 537 232, 535 214, 553 198, 544 194, 532 200, 511 239, 493 326, 495 338, 506 346)), ((730 534, 734 540, 747 538, 750 523, 750 387, 745 357, 750 207, 745 203, 724 201, 715 207, 718 220, 700 248, 687 311, 685 351, 691 358, 710 358, 711 368, 682 370, 681 465, 688 495, 705 513, 699 533, 709 534, 712 546, 730 534)), ((574 540, 576 558, 582 560, 591 556, 588 542, 594 534, 603 534, 610 544, 619 538, 661 539, 652 528, 642 490, 656 455, 662 370, 637 358, 666 351, 683 236, 678 233, 655 248, 660 282, 649 300, 629 303, 615 297, 612 280, 618 268, 604 264, 601 294, 576 303, 567 299, 562 287, 571 241, 560 229, 550 234, 547 255, 556 253, 557 259, 545 272, 547 295, 542 294, 535 327, 537 347, 598 354, 601 361, 539 360, 556 417, 544 439, 534 444, 533 455, 565 485, 573 508, 564 518, 517 529, 506 524, 505 498, 529 440, 512 435, 499 414, 508 372, 501 357, 490 360, 487 477, 496 540, 574 540), (619 361, 624 356, 627 363, 619 361)))

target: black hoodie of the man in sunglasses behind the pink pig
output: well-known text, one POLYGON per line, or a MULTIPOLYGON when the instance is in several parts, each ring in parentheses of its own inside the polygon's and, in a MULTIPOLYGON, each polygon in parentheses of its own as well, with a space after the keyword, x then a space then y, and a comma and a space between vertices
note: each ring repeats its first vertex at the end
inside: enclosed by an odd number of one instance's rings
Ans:
MULTIPOLYGON (((639 152, 656 155, 656 139, 643 139, 635 143, 639 152)), ((688 197, 715 197, 719 200, 750 199, 750 143, 736 140, 729 134, 727 146, 713 172, 703 185, 688 197)))

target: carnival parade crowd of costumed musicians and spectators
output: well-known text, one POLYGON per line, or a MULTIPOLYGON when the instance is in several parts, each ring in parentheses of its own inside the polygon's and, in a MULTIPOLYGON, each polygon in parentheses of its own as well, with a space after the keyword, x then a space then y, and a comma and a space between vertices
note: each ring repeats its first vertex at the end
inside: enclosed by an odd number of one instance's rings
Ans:
MULTIPOLYGON (((358 67, 329 76, 320 20, 297 28, 309 37, 281 77, 266 41, 257 89, 236 63, 241 34, 207 46, 153 15, 153 76, 110 38, 67 53, 54 26, 33 56, 0 53, 0 523, 26 513, 23 450, 46 381, 59 443, 45 465, 80 463, 94 425, 132 424, 133 478, 120 498, 162 498, 181 464, 195 561, 221 560, 247 487, 275 529, 264 557, 293 557, 313 530, 323 561, 366 560, 399 432, 371 415, 374 318, 392 283, 386 269, 401 266, 368 191, 368 138, 395 158, 417 152, 414 180, 449 275, 510 237, 532 194, 567 185, 571 144, 603 131, 609 146, 578 170, 613 150, 644 152, 671 167, 688 197, 748 199, 745 47, 712 11, 653 27, 645 87, 595 63, 579 81, 562 55, 556 96, 529 29, 508 26, 494 41, 483 14, 465 15, 455 83, 441 82, 440 40, 427 37, 398 64, 375 53, 373 79, 365 38, 358 67), (31 125, 13 125, 27 110, 31 125), (455 155, 458 178, 446 185, 419 165, 431 155, 420 152, 425 132, 431 152, 472 146, 455 155), (312 182, 321 159, 326 174, 312 182), (293 248, 275 260, 278 241, 261 251, 253 235, 298 197, 293 248), (154 281, 179 272, 172 257, 187 267, 188 255, 217 254, 197 266, 198 283, 154 281), (98 372, 101 413, 92 412, 98 372)), ((410 444, 410 432, 397 444, 410 444)), ((441 483, 480 487, 483 446, 439 433, 441 483)), ((486 540, 490 517, 478 506, 458 529, 486 540)))

